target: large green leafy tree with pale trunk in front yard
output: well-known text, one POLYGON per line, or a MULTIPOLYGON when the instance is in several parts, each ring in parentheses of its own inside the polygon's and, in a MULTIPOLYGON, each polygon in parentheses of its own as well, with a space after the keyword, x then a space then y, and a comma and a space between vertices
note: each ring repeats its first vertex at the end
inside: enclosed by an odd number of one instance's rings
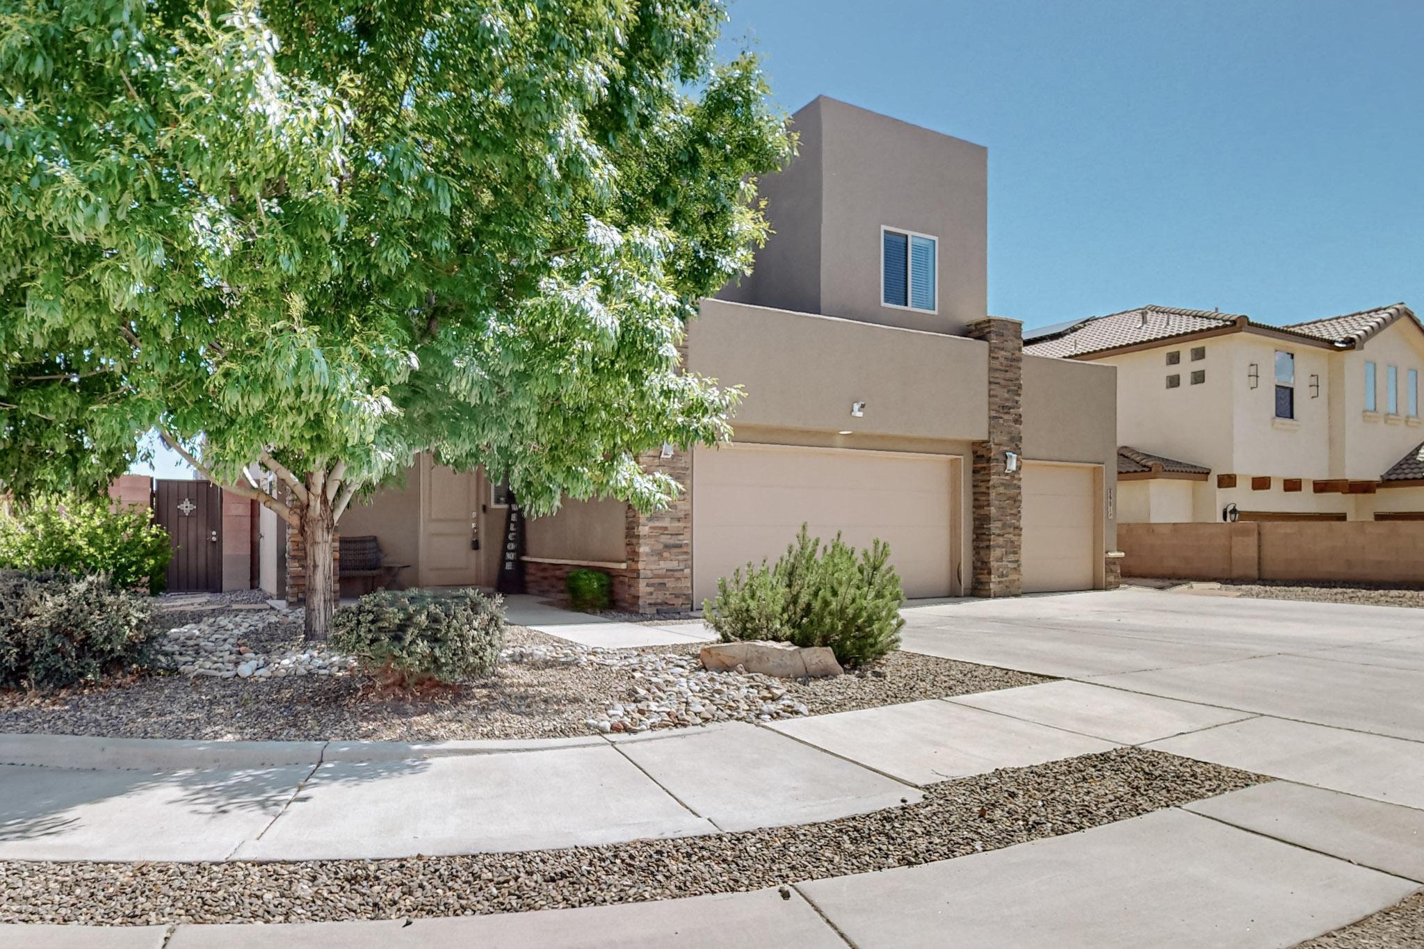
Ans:
POLYGON ((308 551, 431 451, 642 509, 725 440, 679 371, 792 149, 719 0, 10 0, 0 481, 105 482, 158 430, 308 551), (278 489, 272 489, 276 482, 278 489))

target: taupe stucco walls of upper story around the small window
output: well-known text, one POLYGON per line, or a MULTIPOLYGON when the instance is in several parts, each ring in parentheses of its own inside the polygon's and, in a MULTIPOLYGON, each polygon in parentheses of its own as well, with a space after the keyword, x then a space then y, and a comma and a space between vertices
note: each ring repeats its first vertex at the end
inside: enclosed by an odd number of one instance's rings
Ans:
POLYGON ((987 300, 988 152, 819 97, 792 118, 800 155, 759 182, 775 233, 728 300, 963 333, 987 300), (880 228, 938 240, 934 313, 880 302, 880 228))

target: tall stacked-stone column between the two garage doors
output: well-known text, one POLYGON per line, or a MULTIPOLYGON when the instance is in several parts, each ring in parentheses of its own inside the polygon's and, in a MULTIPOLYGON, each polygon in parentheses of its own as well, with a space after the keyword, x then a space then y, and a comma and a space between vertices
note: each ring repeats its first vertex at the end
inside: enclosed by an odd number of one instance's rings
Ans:
POLYGON ((1018 320, 990 316, 967 327, 988 343, 988 440, 974 442, 974 596, 1022 592, 1024 336, 1018 320), (1004 452, 1020 455, 1010 472, 1004 452))

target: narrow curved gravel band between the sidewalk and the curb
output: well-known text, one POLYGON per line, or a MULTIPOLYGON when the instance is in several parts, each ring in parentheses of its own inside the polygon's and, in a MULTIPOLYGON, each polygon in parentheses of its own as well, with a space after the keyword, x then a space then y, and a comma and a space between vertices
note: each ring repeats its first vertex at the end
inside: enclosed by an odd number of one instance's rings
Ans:
POLYGON ((933 784, 837 821, 521 854, 232 864, 0 862, 0 922, 316 922, 524 912, 736 892, 965 857, 1266 778, 1116 748, 933 784))

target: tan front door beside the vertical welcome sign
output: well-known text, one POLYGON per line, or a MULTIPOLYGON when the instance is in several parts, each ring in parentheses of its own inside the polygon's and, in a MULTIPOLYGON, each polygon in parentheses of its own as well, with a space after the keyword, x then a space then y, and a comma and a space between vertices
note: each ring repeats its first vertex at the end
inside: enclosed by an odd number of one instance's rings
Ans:
POLYGON ((478 474, 456 472, 420 455, 420 585, 484 583, 484 548, 498 545, 498 538, 483 529, 478 474))

